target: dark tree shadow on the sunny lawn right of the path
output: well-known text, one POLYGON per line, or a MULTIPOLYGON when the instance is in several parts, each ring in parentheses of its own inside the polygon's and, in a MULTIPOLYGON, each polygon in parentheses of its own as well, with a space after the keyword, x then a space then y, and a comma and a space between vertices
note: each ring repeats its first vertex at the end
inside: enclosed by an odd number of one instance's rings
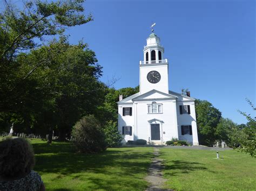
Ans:
POLYGON ((214 173, 206 168, 204 164, 199 162, 188 162, 185 160, 171 160, 169 162, 171 162, 171 165, 165 162, 165 169, 170 170, 171 172, 167 172, 165 174, 170 176, 175 176, 180 173, 186 174, 192 171, 208 171, 214 173))

